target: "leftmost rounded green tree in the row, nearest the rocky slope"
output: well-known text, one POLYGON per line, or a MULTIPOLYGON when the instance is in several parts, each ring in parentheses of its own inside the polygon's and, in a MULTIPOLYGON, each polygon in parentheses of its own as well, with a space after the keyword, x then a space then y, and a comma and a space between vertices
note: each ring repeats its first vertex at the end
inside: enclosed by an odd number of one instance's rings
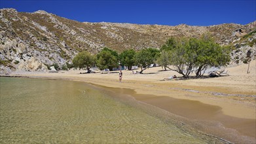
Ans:
POLYGON ((79 67, 79 69, 86 68, 87 73, 90 73, 90 68, 94 66, 95 61, 95 56, 87 51, 79 52, 79 54, 77 54, 77 56, 72 60, 75 67, 79 67))

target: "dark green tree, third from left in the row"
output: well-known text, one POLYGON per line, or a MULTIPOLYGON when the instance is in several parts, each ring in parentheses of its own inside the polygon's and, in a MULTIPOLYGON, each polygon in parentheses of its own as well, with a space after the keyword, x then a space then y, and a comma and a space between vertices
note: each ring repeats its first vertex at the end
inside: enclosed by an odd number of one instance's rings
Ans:
POLYGON ((132 70, 132 65, 135 65, 135 50, 129 49, 129 50, 124 50, 120 54, 120 62, 122 65, 126 65, 128 67, 128 70, 132 70))

